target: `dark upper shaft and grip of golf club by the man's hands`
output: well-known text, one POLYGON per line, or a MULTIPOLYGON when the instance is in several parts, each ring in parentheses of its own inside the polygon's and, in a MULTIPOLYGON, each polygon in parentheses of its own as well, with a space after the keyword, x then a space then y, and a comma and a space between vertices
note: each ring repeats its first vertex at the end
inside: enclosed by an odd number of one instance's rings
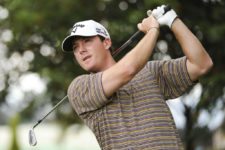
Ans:
MULTIPOLYGON (((165 13, 167 13, 169 10, 171 10, 171 7, 169 5, 166 5, 164 7, 164 13, 163 13, 163 15, 165 13)), ((150 16, 150 13, 151 12, 148 11, 148 16, 150 16)), ((118 49, 116 49, 115 51, 112 52, 112 56, 113 57, 117 56, 122 50, 124 50, 125 48, 127 48, 127 46, 129 46, 134 41, 134 39, 136 39, 141 34, 142 34, 141 31, 139 31, 139 30, 136 31, 122 46, 120 46, 118 49)))

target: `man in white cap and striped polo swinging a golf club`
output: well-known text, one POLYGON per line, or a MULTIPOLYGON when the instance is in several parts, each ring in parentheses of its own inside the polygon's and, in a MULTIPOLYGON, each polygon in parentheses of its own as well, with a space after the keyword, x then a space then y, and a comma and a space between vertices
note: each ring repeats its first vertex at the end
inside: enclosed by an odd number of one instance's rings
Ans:
POLYGON ((76 23, 63 43, 90 74, 76 77, 68 96, 103 150, 184 149, 166 100, 181 96, 213 63, 173 9, 159 6, 137 25, 145 36, 121 60, 110 51, 108 31, 93 20, 76 23), (149 61, 167 25, 185 56, 149 61))

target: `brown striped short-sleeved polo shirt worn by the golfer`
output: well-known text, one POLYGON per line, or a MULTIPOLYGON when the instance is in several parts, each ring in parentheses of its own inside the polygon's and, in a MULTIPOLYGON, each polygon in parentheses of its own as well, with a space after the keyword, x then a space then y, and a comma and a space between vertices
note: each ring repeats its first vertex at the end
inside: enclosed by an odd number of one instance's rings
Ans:
POLYGON ((81 75, 69 86, 69 101, 94 132, 103 150, 180 150, 181 139, 165 100, 181 96, 193 85, 186 57, 149 61, 110 98, 102 72, 81 75))

